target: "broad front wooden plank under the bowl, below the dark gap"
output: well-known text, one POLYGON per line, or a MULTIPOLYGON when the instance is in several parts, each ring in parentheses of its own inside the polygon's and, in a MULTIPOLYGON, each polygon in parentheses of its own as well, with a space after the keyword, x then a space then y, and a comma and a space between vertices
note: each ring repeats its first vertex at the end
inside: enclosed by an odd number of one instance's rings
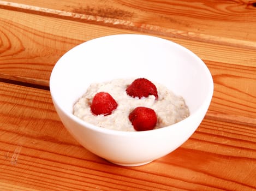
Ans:
POLYGON ((49 91, 1 82, 0 104, 3 190, 256 189, 254 127, 205 119, 174 152, 126 168, 81 147, 59 121, 49 91))

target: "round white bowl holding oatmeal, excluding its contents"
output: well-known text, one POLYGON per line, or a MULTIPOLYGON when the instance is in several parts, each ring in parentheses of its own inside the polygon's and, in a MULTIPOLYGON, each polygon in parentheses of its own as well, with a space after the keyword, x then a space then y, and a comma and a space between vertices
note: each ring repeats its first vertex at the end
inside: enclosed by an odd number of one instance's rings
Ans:
POLYGON ((50 91, 64 126, 87 150, 124 166, 165 156, 198 128, 209 108, 213 80, 209 69, 181 45, 148 35, 110 35, 82 43, 63 55, 50 77, 50 91), (92 82, 146 77, 182 96, 190 116, 168 127, 121 132, 86 123, 73 115, 74 103, 92 82))

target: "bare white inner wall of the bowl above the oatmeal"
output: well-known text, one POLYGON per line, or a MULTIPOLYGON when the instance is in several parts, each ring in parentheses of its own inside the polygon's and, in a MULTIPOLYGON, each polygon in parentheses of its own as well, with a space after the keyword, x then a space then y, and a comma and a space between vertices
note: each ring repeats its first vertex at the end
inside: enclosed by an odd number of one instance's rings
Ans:
POLYGON ((61 108, 72 112, 74 103, 92 82, 146 77, 181 95, 193 113, 211 96, 209 73, 194 53, 169 40, 111 35, 67 52, 52 71, 50 88, 61 108))

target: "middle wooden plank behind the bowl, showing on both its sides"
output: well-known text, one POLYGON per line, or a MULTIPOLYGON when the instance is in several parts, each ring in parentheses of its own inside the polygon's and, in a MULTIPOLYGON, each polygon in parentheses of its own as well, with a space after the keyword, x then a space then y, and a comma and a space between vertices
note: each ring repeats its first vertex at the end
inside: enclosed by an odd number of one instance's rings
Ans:
MULTIPOLYGON (((23 82, 29 86, 38 85, 40 88, 49 86, 53 65, 75 45, 104 35, 136 33, 4 9, 0 9, 0 13, 1 81, 11 80, 19 84, 23 82)), ((212 112, 207 115, 216 117, 214 112, 218 112, 218 114, 228 114, 225 116, 226 119, 236 118, 237 122, 248 122, 247 118, 250 118, 250 124, 255 122, 256 58, 254 50, 159 37, 187 47, 203 59, 209 67, 215 82, 215 93, 210 106, 212 112)))

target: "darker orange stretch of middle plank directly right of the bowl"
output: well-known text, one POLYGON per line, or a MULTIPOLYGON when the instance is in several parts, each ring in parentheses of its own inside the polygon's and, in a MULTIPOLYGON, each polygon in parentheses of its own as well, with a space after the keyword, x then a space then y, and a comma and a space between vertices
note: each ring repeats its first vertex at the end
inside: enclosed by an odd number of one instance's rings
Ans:
POLYGON ((206 64, 215 86, 207 117, 255 126, 256 67, 209 61, 206 64))

